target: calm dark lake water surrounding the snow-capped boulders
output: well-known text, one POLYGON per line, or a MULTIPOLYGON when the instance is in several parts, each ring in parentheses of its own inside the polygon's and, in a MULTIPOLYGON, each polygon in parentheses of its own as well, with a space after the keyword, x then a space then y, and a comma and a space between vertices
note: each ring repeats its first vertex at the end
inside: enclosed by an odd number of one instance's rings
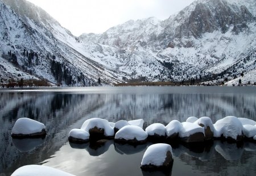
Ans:
POLYGON ((255 175, 256 144, 214 141, 189 148, 172 146, 170 173, 144 173, 139 168, 148 145, 68 143, 68 132, 89 118, 117 122, 143 118, 144 127, 190 116, 228 115, 256 121, 255 87, 102 87, 0 90, 0 176, 23 165, 39 164, 75 175, 255 175), (44 123, 45 139, 12 139, 16 119, 44 123))

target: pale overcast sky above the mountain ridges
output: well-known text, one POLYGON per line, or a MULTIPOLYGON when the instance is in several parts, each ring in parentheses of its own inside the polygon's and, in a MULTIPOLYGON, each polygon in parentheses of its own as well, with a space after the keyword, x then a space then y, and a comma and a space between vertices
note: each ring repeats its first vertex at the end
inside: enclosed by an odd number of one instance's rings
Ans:
POLYGON ((46 10, 73 35, 102 33, 127 20, 167 19, 195 0, 28 0, 46 10))

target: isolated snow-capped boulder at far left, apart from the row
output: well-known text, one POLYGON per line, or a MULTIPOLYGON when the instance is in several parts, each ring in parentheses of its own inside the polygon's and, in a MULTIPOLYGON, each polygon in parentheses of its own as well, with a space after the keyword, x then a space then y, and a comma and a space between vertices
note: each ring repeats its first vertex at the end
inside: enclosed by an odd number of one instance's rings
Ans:
POLYGON ((46 126, 43 123, 29 118, 19 118, 11 131, 13 138, 30 138, 46 135, 46 126))

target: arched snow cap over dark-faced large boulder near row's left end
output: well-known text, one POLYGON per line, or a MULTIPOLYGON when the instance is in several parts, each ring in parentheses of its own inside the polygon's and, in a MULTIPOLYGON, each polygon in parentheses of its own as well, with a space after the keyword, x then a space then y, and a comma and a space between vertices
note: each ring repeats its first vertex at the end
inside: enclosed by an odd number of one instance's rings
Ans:
POLYGON ((105 136, 114 136, 114 128, 109 125, 109 122, 106 119, 101 118, 91 118, 86 120, 81 127, 81 130, 85 130, 89 133, 89 130, 97 127, 104 129, 105 136))

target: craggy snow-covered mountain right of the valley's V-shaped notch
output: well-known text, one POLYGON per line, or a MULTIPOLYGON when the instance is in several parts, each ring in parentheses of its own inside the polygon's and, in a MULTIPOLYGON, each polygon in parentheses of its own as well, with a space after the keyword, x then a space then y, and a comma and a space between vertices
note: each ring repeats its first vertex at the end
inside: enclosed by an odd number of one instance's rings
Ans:
POLYGON ((152 80, 234 77, 255 69, 255 9, 252 0, 200 0, 162 22, 130 20, 80 40, 126 51, 119 70, 152 80))

